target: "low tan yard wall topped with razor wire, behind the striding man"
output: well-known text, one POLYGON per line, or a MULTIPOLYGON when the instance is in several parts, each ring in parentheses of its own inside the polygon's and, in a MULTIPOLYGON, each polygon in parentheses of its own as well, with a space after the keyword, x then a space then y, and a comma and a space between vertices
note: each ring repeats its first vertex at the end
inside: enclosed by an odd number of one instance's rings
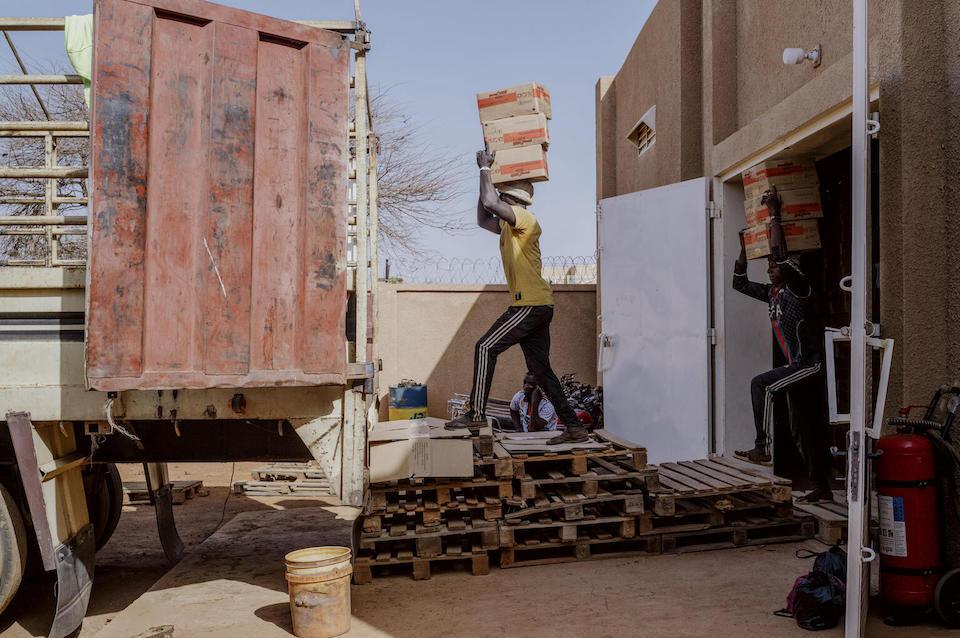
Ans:
MULTIPOLYGON (((446 416, 454 392, 469 392, 473 347, 506 310, 506 286, 378 284, 380 416, 387 417, 390 385, 401 379, 425 383, 431 416, 446 416)), ((557 375, 574 372, 596 380, 596 287, 554 285, 550 326, 551 363, 557 375)), ((526 371, 519 347, 500 355, 490 396, 510 398, 526 371)))

